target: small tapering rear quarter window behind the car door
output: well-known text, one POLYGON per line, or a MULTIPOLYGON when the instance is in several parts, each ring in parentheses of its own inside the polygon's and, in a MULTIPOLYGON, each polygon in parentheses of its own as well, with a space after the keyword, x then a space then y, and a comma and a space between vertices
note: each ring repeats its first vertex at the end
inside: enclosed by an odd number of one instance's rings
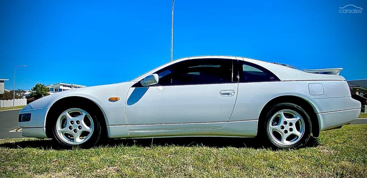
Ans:
POLYGON ((265 82, 279 80, 270 71, 252 63, 240 61, 239 67, 239 82, 265 82))

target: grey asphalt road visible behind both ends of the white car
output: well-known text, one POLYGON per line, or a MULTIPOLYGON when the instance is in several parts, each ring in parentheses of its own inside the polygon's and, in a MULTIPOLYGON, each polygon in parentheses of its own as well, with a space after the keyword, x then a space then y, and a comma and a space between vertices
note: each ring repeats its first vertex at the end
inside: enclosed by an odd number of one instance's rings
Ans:
MULTIPOLYGON (((21 138, 22 132, 17 132, 19 110, 0 111, 0 139, 21 138), (12 130, 11 132, 9 132, 12 130)), ((359 118, 351 124, 367 124, 367 118, 359 118)))

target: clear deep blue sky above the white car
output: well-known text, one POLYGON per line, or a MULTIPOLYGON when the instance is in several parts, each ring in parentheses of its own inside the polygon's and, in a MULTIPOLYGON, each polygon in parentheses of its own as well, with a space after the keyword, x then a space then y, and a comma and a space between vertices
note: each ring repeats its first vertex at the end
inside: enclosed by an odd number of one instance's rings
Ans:
MULTIPOLYGON (((0 78, 12 88, 131 80, 170 61, 171 0, 0 1, 0 78)), ((231 55, 367 78, 367 1, 176 0, 173 58, 231 55), (360 14, 341 14, 354 4, 360 14), (366 12, 365 12, 366 11, 366 12)))

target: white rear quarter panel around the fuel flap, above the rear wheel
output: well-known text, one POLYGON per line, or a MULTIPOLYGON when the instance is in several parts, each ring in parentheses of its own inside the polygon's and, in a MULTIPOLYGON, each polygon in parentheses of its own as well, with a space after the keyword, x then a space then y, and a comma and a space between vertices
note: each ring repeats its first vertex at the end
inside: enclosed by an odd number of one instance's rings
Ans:
MULTIPOLYGON (((305 101, 319 98, 349 97, 345 81, 317 81, 325 87, 323 95, 310 95, 308 84, 314 81, 280 81, 280 82, 250 82, 239 83, 237 101, 230 121, 258 119, 264 106, 279 96, 297 96, 305 101), (260 88, 254 90, 254 88, 260 88)), ((346 84, 347 85, 347 84, 346 84)), ((316 113, 320 107, 316 107, 316 113)), ((338 108, 338 107, 335 107, 338 108)), ((348 108, 350 109, 350 108, 348 108)))

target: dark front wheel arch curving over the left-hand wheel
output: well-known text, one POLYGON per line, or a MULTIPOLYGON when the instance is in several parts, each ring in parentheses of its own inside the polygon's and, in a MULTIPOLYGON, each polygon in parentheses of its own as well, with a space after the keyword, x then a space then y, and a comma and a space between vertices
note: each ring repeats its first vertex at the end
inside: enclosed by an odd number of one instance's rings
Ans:
POLYGON ((69 102, 83 102, 83 104, 88 105, 88 107, 91 107, 94 111, 96 111, 96 114, 98 114, 98 118, 100 118, 99 121, 101 122, 101 126, 102 126, 102 134, 107 133, 105 113, 103 112, 103 109, 96 102, 92 101, 91 99, 82 97, 82 96, 67 96, 65 98, 61 98, 55 101, 47 112, 45 126, 46 126, 46 136, 48 138, 54 137, 52 133, 52 126, 53 126, 52 121, 51 121, 52 116, 54 116, 54 113, 55 111, 57 111, 59 106, 65 103, 69 103, 69 102))

